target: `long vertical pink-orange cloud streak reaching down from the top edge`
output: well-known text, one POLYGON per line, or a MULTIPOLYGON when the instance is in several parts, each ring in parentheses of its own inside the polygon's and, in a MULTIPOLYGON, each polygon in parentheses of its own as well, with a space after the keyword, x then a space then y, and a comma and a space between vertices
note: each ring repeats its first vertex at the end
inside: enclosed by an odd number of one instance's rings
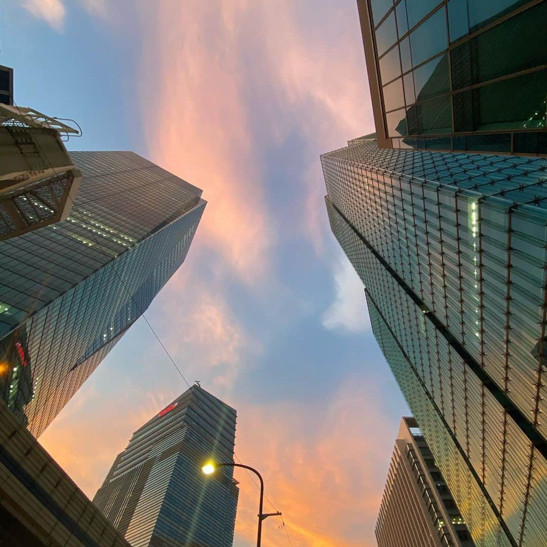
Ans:
POLYGON ((143 4, 141 87, 150 158, 203 188, 205 245, 249 283, 275 240, 241 91, 236 37, 210 2, 143 4), (155 84, 153 84, 155 83, 155 84))

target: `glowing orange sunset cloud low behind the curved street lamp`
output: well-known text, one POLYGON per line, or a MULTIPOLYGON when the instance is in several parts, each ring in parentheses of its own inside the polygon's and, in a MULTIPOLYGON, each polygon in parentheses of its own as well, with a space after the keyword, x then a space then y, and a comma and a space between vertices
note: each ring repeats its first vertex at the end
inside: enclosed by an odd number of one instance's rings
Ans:
MULTIPOLYGON (((365 383, 350 378, 317 403, 236 406, 236 453, 263 474, 265 493, 282 511, 295 547, 375 545, 374 522, 397 431, 382 417, 380 395, 371 396, 365 383)), ((250 542, 257 488, 244 472, 236 476, 236 538, 250 542)), ((265 547, 283 545, 282 536, 275 519, 265 521, 265 547)))

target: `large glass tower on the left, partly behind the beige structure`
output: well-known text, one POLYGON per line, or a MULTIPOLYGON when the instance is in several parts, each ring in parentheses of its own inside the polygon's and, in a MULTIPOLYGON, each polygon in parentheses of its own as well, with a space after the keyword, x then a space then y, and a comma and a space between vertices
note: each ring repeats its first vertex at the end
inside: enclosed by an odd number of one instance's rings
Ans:
POLYGON ((182 264, 201 190, 132 152, 73 152, 68 218, 0 242, 0 397, 34 435, 182 264))

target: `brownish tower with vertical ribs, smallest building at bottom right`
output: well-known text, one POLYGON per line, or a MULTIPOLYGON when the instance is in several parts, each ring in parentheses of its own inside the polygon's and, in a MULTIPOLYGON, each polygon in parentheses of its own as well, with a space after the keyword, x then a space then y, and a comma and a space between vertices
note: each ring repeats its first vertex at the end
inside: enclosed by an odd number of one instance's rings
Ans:
POLYGON ((376 522, 378 547, 472 547, 414 418, 401 420, 376 522))

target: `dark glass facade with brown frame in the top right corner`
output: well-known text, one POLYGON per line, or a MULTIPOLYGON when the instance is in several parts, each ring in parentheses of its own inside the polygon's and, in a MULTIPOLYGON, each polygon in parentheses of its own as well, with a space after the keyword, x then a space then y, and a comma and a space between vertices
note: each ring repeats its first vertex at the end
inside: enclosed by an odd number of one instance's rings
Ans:
POLYGON ((391 147, 547 154, 545 1, 366 4, 391 147))

